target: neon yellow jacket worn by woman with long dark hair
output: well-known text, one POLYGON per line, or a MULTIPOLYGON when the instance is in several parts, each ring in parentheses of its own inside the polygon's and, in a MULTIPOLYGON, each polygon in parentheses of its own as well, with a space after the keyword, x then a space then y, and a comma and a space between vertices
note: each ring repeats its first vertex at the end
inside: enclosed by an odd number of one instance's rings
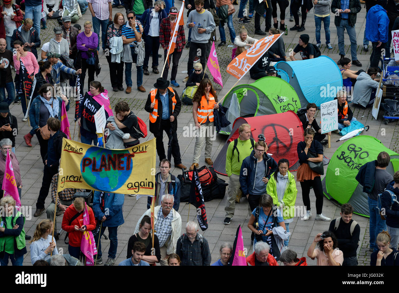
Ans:
POLYGON ((295 214, 295 201, 296 201, 296 193, 298 193, 298 189, 296 189, 295 177, 287 171, 288 173, 288 186, 284 191, 284 197, 282 198, 282 202, 278 201, 277 197, 277 187, 276 187, 276 179, 274 177, 274 173, 271 175, 269 182, 267 183, 266 192, 271 195, 273 198, 273 204, 279 207, 282 206, 282 217, 284 220, 290 219, 294 217, 295 214))

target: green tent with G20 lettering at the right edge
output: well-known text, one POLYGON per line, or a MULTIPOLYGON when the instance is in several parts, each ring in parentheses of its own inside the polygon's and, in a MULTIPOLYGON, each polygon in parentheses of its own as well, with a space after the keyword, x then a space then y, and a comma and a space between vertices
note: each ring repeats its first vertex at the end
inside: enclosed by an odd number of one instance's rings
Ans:
POLYGON ((392 175, 399 169, 399 154, 385 147, 372 136, 355 136, 347 140, 332 156, 322 180, 324 195, 335 199, 341 205, 350 203, 354 213, 369 217, 367 194, 356 180, 359 169, 367 162, 377 159, 381 151, 391 157, 387 171, 392 175))

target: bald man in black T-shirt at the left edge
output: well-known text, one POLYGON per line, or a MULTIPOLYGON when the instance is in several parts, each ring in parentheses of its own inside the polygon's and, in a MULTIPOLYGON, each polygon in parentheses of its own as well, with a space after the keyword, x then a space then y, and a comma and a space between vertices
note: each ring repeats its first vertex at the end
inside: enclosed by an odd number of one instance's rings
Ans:
POLYGON ((5 101, 10 105, 15 99, 15 87, 11 75, 11 65, 14 66, 14 61, 12 51, 6 47, 6 39, 0 39, 0 102, 5 101), (5 90, 8 94, 7 99, 5 90))

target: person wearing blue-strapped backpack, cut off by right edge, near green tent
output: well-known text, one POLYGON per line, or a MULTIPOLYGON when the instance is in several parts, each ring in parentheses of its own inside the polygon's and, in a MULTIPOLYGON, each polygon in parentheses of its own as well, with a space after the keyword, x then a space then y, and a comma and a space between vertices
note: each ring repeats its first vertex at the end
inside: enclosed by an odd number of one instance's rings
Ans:
POLYGON ((399 244, 399 171, 393 175, 393 181, 379 195, 381 202, 381 217, 386 219, 389 235, 391 236, 391 248, 395 250, 399 244))

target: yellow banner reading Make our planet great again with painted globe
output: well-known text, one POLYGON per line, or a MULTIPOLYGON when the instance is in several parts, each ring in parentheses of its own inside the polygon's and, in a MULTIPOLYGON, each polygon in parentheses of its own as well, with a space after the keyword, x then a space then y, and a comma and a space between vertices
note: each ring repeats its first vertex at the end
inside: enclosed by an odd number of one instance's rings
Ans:
POLYGON ((154 195, 155 138, 128 149, 62 140, 58 192, 65 188, 154 195))

